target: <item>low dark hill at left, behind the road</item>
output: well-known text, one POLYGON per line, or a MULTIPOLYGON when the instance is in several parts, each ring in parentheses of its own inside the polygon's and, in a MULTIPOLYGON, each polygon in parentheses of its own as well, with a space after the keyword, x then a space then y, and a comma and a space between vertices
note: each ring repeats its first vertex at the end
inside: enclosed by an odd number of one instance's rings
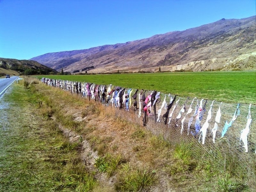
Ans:
POLYGON ((8 71, 13 75, 35 75, 35 74, 56 74, 56 70, 31 60, 17 60, 0 58, 0 74, 5 75, 8 71), (5 69, 5 70, 4 70, 5 69))

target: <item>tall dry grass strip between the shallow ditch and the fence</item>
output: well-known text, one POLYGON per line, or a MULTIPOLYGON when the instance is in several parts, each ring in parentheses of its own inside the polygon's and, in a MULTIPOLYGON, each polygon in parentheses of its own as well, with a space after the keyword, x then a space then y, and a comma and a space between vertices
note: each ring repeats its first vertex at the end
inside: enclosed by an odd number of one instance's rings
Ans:
MULTIPOLYGON (((147 126, 142 127, 141 119, 132 111, 128 115, 123 110, 43 84, 34 87, 45 97, 38 104, 42 111, 46 110, 45 114, 50 114, 45 116, 54 117, 58 123, 86 138, 101 158, 96 161, 108 166, 110 157, 121 155, 125 159, 123 166, 111 169, 110 175, 118 178, 114 182, 117 190, 138 189, 129 188, 128 185, 135 184, 125 183, 122 175, 142 177, 136 185, 152 191, 256 189, 254 154, 238 153, 232 141, 223 139, 216 141, 216 145, 202 146, 191 136, 181 137, 176 127, 159 126, 151 118, 147 126), (151 179, 150 182, 147 179, 151 179), (150 185, 139 185, 142 181, 150 185)), ((109 172, 96 168, 98 172, 109 172)))

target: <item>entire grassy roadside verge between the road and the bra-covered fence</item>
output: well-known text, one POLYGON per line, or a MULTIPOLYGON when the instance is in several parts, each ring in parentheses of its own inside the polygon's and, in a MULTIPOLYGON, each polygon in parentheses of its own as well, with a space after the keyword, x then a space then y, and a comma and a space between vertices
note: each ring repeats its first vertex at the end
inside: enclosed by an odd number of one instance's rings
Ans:
POLYGON ((253 154, 241 159, 251 163, 242 167, 238 157, 220 149, 205 153, 192 140, 170 143, 118 117, 113 108, 43 84, 15 85, 4 99, 11 106, 5 115, 14 121, 1 132, 1 145, 7 147, 0 154, 0 190, 255 189, 253 154), (71 138, 71 132, 73 140, 63 136, 71 138))

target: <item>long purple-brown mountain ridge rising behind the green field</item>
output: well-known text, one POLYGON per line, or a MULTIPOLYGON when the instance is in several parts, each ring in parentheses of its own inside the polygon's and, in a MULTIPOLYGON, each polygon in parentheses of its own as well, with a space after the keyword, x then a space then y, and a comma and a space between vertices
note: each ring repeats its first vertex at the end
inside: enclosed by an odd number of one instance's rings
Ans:
MULTIPOLYGON (((166 24, 170 25, 170 24, 166 24)), ((32 58, 56 70, 81 72, 249 70, 256 68, 256 17, 221 19, 199 27, 84 50, 32 58)))

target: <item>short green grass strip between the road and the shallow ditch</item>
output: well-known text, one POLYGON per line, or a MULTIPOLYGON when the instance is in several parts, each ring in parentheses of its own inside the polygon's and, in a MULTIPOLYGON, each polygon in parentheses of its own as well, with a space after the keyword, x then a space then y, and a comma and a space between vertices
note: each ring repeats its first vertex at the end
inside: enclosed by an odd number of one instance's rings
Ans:
POLYGON ((0 191, 92 190, 97 181, 79 157, 80 143, 70 143, 56 122, 38 115, 45 112, 35 107, 42 98, 32 92, 15 84, 3 96, 0 191))

